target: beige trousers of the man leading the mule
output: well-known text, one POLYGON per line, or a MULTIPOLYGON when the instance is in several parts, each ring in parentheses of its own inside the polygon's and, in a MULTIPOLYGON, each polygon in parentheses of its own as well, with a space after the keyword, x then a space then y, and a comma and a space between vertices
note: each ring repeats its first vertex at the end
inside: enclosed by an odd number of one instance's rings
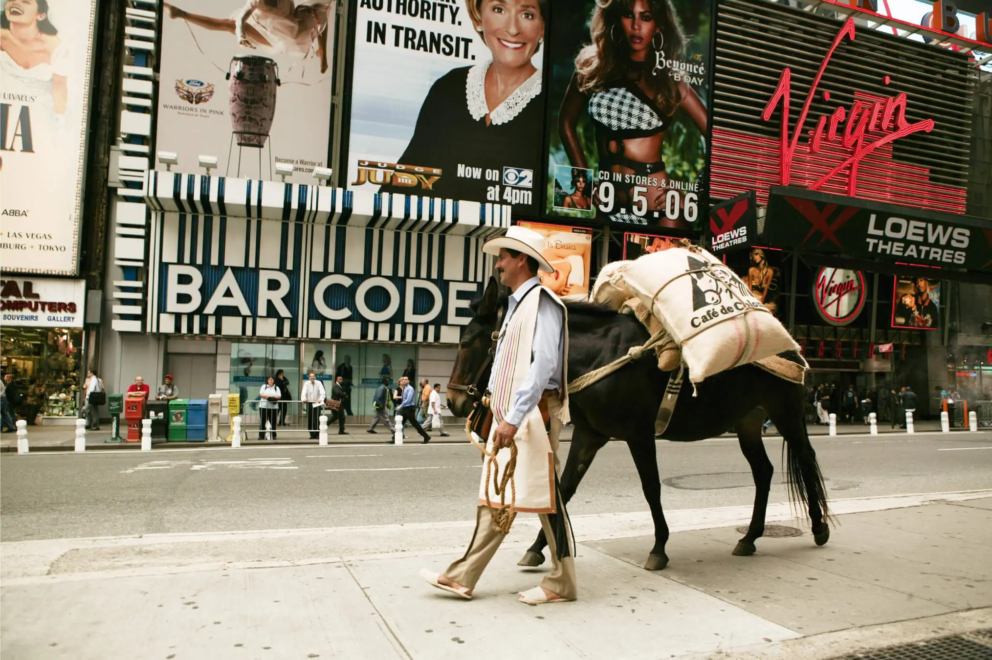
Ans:
MULTIPOLYGON (((548 411, 551 414, 551 432, 548 436, 551 441, 552 452, 555 453, 556 472, 560 472, 558 464, 558 436, 561 433, 558 412, 560 410, 561 401, 558 397, 549 397, 548 411)), ((571 552, 568 557, 558 561, 555 531, 548 520, 548 515, 538 514, 538 517, 541 519, 541 527, 545 530, 545 537, 548 539, 548 551, 552 556, 552 572, 541 581, 541 586, 549 592, 573 599, 578 594, 575 585, 575 562, 573 559, 575 549, 570 548, 571 552)), ((482 572, 489 565, 504 538, 499 531, 493 529, 492 509, 488 506, 479 506, 475 511, 475 531, 472 533, 472 540, 468 544, 468 549, 461 559, 452 563, 441 575, 462 587, 475 589, 476 583, 482 577, 482 572)), ((568 538, 571 539, 570 522, 568 523, 568 538)))

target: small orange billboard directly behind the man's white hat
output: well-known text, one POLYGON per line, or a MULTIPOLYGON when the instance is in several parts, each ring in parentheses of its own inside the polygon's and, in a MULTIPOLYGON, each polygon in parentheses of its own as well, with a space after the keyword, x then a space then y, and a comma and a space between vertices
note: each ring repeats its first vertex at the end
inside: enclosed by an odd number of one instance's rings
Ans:
POLYGON ((589 267, 592 260, 592 229, 558 224, 520 222, 545 237, 541 255, 554 273, 538 273, 541 284, 558 296, 589 295, 589 267))

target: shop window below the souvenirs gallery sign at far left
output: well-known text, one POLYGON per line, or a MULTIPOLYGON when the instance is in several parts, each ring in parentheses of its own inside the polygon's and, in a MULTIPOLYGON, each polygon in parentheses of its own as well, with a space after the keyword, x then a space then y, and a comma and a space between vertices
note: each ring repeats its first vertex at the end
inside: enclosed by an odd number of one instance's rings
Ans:
POLYGON ((3 372, 13 376, 19 417, 75 417, 82 386, 82 330, 4 328, 3 372))

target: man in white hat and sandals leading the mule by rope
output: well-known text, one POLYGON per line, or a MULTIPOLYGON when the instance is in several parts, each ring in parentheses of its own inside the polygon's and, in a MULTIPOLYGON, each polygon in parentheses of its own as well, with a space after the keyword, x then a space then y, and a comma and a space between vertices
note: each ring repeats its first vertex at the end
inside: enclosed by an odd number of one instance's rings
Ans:
MULTIPOLYGON (((513 292, 499 330, 487 392, 494 422, 487 449, 496 453, 516 447, 515 506, 539 513, 552 557, 552 572, 541 586, 518 595, 528 604, 573 600, 577 595, 570 525, 556 486, 558 434, 568 421, 567 323, 558 296, 538 278, 539 268, 552 272, 541 255, 544 247, 541 234, 520 226, 510 227, 505 236, 482 247, 489 254, 498 252, 496 271, 513 292)), ((504 465, 508 461, 505 455, 503 461, 504 465)), ((475 531, 465 554, 443 573, 421 571, 421 577, 437 589, 464 598, 471 598, 507 531, 503 518, 507 512, 496 510, 499 497, 486 473, 484 468, 479 490, 487 504, 496 504, 477 507, 475 531), (501 519, 502 526, 495 526, 501 519)))

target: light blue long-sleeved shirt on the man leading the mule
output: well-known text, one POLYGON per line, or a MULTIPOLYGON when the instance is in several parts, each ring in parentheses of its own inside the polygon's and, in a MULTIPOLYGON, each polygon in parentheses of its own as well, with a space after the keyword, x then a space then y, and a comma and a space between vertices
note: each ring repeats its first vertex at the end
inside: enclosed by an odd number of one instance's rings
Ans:
MULTIPOLYGON (((510 302, 503 318, 502 333, 506 330, 506 325, 510 321, 513 311, 523 300, 524 296, 534 287, 541 284, 541 280, 535 276, 524 282, 510 296, 510 302)), ((538 323, 534 329, 534 344, 531 347, 531 370, 527 373, 523 386, 513 395, 513 404, 510 412, 506 416, 506 421, 513 426, 519 427, 524 418, 534 410, 541 400, 541 395, 545 390, 561 388, 561 353, 564 345, 564 315, 561 308, 551 300, 548 300, 544 292, 537 292, 535 296, 541 296, 538 301, 538 323)), ((499 363, 500 353, 503 349, 503 340, 500 339, 496 345, 496 355, 493 363, 499 363)), ((489 389, 495 385, 496 373, 489 377, 489 389)))

